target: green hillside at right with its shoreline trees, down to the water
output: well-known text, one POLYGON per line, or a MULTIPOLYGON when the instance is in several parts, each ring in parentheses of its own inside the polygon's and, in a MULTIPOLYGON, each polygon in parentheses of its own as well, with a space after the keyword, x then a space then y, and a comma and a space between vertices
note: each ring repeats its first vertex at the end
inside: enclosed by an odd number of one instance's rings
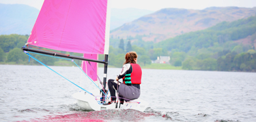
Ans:
POLYGON ((170 38, 156 43, 154 48, 167 50, 171 64, 180 62, 187 70, 255 72, 255 45, 256 16, 251 16, 170 38), (238 41, 246 39, 247 44, 238 41))

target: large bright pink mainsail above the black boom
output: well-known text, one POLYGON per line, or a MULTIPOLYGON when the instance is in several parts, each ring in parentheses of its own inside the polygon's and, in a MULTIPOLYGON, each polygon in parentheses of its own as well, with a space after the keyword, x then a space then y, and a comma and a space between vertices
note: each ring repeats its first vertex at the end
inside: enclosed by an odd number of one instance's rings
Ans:
POLYGON ((107 0, 44 0, 29 45, 81 54, 109 53, 107 0))

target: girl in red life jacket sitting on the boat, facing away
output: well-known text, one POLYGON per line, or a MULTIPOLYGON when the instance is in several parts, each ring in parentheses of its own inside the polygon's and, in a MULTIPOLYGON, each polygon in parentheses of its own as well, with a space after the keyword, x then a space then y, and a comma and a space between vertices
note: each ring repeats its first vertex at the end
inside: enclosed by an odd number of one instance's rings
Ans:
POLYGON ((122 72, 117 75, 115 79, 116 81, 113 79, 109 79, 108 81, 111 102, 106 104, 115 102, 115 89, 117 89, 119 92, 121 104, 124 102, 124 100, 128 102, 130 100, 137 99, 141 94, 140 84, 142 71, 141 66, 137 64, 138 55, 136 52, 128 52, 125 58, 126 62, 124 62, 122 72), (119 79, 123 79, 123 83, 119 82, 119 79))

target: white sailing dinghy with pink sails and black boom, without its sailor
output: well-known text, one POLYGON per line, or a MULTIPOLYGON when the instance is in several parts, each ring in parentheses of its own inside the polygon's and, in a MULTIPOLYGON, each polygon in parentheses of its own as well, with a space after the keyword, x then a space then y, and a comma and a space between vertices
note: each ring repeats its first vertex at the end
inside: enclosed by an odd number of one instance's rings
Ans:
MULTIPOLYGON (((29 53, 67 60, 82 60, 81 70, 83 70, 83 73, 92 82, 99 82, 100 85, 94 83, 96 89, 87 91, 67 79, 70 83, 80 87, 82 90, 72 95, 76 98, 77 104, 81 108, 85 110, 131 108, 144 111, 148 104, 139 99, 130 100, 121 105, 119 102, 117 104, 103 105, 110 99, 110 94, 108 94, 109 92, 106 87, 109 54, 109 3, 110 1, 107 0, 44 0, 31 35, 22 49, 25 54, 34 60, 37 59, 29 53), (46 49, 81 53, 83 57, 61 54, 46 49), (98 60, 98 54, 104 54, 104 60, 98 60), (104 64, 103 83, 97 74, 98 63, 104 64)), ((40 60, 37 61, 40 62, 40 60)), ((40 63, 43 64, 42 62, 40 63)), ((43 65, 46 66, 45 64, 43 65)), ((57 74, 60 75, 59 73, 57 74)), ((62 75, 60 76, 63 77, 62 75)))

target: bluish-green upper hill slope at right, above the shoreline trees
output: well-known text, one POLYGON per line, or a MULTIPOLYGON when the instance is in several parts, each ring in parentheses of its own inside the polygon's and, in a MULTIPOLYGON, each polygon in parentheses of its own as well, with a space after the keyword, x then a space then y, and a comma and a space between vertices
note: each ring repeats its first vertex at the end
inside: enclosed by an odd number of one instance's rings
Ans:
MULTIPOLYGON (((234 45, 237 45, 233 41, 251 36, 255 32, 256 16, 251 16, 233 22, 221 22, 203 31, 195 31, 170 38, 156 43, 154 47, 162 47, 169 51, 186 53, 193 49, 207 49, 212 47, 232 49, 234 45)), ((218 52, 220 49, 216 49, 216 51, 218 52)))

